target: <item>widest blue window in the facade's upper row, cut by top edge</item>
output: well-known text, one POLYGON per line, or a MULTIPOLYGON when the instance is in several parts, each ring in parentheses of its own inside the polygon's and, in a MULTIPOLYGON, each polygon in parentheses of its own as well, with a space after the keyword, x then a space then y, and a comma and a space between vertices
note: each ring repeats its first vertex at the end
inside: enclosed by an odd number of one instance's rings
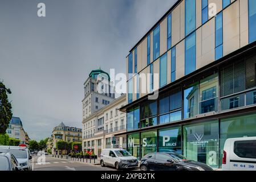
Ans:
POLYGON ((196 30, 196 1, 185 0, 185 36, 196 30))

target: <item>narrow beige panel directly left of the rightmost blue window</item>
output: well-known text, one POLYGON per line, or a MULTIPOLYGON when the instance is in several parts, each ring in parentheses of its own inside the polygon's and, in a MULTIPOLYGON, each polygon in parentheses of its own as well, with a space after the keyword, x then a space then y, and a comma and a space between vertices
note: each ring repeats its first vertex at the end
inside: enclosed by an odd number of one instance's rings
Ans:
POLYGON ((239 0, 240 6, 240 47, 249 44, 248 1, 239 0))

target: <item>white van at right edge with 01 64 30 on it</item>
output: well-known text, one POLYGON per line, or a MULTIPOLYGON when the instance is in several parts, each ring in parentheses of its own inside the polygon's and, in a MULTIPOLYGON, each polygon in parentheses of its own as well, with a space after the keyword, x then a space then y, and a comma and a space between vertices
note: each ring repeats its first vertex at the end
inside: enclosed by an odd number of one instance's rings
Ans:
POLYGON ((224 144, 222 170, 256 171, 256 137, 227 139, 224 144))

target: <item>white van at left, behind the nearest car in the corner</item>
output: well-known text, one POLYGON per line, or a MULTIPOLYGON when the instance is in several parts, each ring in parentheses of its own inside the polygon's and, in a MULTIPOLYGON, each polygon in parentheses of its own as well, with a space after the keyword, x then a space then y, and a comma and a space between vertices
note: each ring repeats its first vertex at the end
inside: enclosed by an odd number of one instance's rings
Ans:
POLYGON ((19 165, 24 170, 28 170, 28 171, 32 170, 32 163, 31 163, 32 156, 27 147, 0 146, 0 152, 10 152, 10 154, 13 154, 15 156, 15 158, 19 162, 19 165))

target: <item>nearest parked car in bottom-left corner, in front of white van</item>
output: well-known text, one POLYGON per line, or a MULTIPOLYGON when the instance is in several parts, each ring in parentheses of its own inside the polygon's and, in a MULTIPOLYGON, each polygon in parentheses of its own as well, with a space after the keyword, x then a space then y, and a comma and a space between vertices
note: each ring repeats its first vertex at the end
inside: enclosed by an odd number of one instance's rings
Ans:
POLYGON ((0 171, 23 171, 23 169, 13 154, 0 152, 0 171))

